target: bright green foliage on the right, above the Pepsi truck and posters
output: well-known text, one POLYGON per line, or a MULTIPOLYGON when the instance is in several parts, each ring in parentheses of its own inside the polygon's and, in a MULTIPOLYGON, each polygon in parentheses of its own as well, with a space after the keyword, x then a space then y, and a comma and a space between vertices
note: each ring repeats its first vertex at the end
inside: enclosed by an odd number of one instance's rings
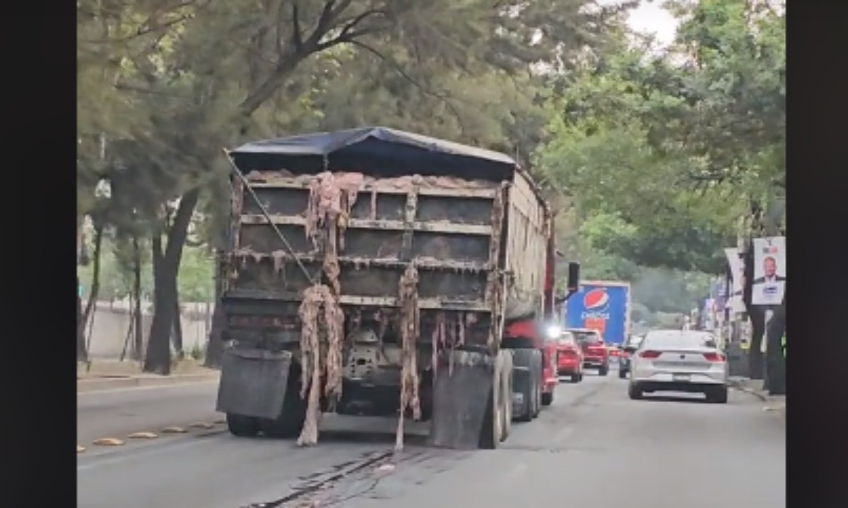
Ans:
POLYGON ((556 77, 536 169, 571 197, 587 248, 721 273, 750 202, 783 195, 784 17, 764 5, 673 6, 672 51, 620 34, 556 77))

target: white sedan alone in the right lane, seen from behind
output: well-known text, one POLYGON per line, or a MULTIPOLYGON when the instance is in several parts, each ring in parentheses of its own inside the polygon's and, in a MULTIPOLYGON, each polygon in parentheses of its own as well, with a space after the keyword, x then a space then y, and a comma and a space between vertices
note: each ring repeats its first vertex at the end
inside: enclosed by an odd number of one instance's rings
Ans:
POLYGON ((655 330, 645 334, 630 359, 628 395, 678 391, 728 401, 728 361, 713 334, 700 330, 655 330))

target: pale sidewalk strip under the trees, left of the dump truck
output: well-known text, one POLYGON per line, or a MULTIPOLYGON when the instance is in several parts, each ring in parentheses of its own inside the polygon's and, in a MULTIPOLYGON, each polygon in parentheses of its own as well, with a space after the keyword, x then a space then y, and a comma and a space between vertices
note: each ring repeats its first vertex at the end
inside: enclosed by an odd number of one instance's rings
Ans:
POLYGON ((219 371, 203 367, 199 362, 193 360, 179 362, 173 367, 169 376, 142 373, 142 367, 137 362, 92 360, 88 365, 86 363, 77 363, 76 392, 198 383, 214 381, 219 378, 219 375, 219 371))

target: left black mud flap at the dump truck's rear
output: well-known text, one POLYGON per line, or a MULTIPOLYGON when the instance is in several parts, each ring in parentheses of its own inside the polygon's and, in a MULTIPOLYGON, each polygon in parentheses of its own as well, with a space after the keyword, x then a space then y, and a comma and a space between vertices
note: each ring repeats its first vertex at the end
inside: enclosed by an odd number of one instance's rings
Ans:
POLYGON ((292 353, 227 349, 221 362, 217 411, 246 417, 280 416, 292 353))

